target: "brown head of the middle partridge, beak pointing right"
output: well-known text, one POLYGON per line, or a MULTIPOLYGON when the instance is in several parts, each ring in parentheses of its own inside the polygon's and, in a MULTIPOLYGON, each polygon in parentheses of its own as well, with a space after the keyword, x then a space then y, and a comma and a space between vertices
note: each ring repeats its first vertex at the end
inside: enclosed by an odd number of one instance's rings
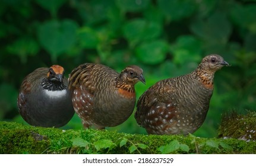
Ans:
POLYGON ((145 78, 143 76, 143 69, 138 66, 132 65, 128 66, 121 72, 122 79, 127 80, 131 84, 136 84, 138 81, 146 84, 145 78))

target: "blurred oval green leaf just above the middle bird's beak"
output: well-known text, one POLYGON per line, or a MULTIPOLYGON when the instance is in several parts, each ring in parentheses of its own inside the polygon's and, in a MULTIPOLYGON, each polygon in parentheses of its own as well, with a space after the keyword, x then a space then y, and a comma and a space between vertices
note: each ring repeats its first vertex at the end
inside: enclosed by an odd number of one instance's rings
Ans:
POLYGON ((165 41, 150 41, 137 47, 136 56, 143 63, 154 65, 165 60, 167 50, 168 45, 165 41))

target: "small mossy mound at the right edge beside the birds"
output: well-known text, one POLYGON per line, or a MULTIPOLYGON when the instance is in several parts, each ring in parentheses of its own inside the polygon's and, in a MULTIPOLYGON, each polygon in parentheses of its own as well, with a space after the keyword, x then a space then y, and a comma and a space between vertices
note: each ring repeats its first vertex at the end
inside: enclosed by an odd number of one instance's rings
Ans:
POLYGON ((248 111, 245 115, 235 112, 223 114, 219 127, 219 138, 256 141, 256 112, 248 111))

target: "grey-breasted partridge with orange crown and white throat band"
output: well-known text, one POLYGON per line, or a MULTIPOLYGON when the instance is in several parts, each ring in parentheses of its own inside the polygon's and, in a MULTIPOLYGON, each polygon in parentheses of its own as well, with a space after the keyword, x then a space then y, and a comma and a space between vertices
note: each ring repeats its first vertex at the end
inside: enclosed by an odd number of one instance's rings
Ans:
POLYGON ((64 68, 52 65, 50 68, 38 68, 27 75, 21 84, 17 105, 21 116, 30 125, 66 125, 75 111, 64 68))

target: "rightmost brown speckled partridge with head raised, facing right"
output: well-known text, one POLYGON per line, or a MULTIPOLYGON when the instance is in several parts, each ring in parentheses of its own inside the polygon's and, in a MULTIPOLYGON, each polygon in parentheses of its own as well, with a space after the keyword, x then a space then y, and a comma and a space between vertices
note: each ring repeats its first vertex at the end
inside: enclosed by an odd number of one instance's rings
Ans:
POLYGON ((228 65, 221 56, 208 55, 190 74, 157 82, 138 100, 138 125, 148 134, 194 133, 206 119, 214 73, 228 65))

